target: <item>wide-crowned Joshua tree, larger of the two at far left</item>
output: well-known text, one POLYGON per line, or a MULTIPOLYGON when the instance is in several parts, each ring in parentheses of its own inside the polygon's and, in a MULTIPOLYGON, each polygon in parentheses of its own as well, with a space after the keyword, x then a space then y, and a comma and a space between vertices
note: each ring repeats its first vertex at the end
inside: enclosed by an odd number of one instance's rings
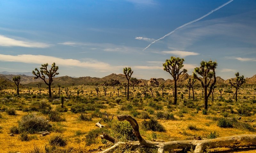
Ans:
POLYGON ((44 83, 48 85, 49 88, 49 97, 52 98, 52 92, 51 92, 51 85, 52 85, 52 78, 55 77, 55 75, 58 75, 59 73, 57 70, 59 69, 58 66, 53 62, 51 69, 47 69, 48 63, 42 64, 42 67, 39 70, 36 68, 35 70, 32 71, 32 73, 36 76, 34 79, 40 78, 44 80, 44 83), (48 77, 48 82, 45 80, 45 75, 48 77))

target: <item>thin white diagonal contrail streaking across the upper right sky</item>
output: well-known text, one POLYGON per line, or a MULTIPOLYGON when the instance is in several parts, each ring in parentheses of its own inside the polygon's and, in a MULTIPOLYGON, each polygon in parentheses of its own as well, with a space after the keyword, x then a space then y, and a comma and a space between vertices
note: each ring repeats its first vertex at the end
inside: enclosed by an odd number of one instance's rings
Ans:
MULTIPOLYGON (((176 30, 178 30, 178 29, 180 29, 180 28, 183 28, 183 27, 186 26, 186 25, 190 25, 190 24, 192 24, 192 23, 194 23, 194 22, 196 22, 196 21, 199 21, 199 20, 201 20, 201 19, 207 17, 208 15, 212 14, 214 11, 219 10, 220 8, 222 8, 223 6, 229 4, 229 3, 232 2, 232 1, 233 1, 233 0, 230 0, 230 1, 228 1, 227 3, 222 4, 222 5, 220 5, 219 7, 217 7, 216 9, 214 9, 214 10, 210 11, 209 13, 205 14, 204 16, 202 16, 202 17, 200 17, 200 18, 197 18, 197 19, 195 19, 195 20, 193 20, 193 21, 190 21, 190 22, 188 22, 188 23, 186 23, 186 24, 184 24, 184 25, 179 26, 178 28, 176 28, 176 29, 173 30, 172 32, 166 34, 164 37, 159 38, 158 40, 164 39, 166 36, 169 36, 170 34, 174 33, 176 30)), ((151 44, 154 44, 154 43, 155 43, 156 41, 158 41, 158 40, 155 40, 155 41, 151 42, 151 43, 150 43, 146 48, 144 48, 143 50, 147 49, 149 46, 151 46, 151 44)))

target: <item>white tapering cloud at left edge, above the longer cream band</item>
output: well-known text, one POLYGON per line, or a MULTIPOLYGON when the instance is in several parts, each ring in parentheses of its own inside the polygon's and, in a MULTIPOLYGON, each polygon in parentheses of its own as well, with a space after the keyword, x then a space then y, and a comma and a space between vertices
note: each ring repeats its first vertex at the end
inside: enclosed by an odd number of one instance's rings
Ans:
POLYGON ((32 42, 25 40, 16 40, 0 35, 0 46, 4 47, 29 47, 29 48, 46 48, 50 47, 49 44, 41 42, 32 42))

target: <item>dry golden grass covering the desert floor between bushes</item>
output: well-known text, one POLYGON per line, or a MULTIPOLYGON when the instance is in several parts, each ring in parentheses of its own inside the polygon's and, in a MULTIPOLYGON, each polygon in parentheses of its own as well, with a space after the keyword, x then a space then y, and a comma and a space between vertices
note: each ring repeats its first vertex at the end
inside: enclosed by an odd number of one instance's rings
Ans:
MULTIPOLYGON (((81 86, 74 86, 69 87, 70 92, 72 93, 72 96, 75 98, 77 96, 77 90, 80 90, 79 96, 85 97, 90 99, 90 97, 96 98, 97 93, 94 90, 94 86, 83 86, 83 93, 81 93, 81 86)), ((135 106, 132 105, 132 99, 131 102, 127 102, 125 100, 124 96, 124 89, 120 89, 119 95, 122 99, 120 102, 120 105, 116 104, 115 99, 117 98, 117 90, 116 88, 113 90, 113 88, 108 87, 107 91, 107 97, 104 97, 104 91, 102 90, 102 87, 100 86, 100 92, 99 92, 99 100, 94 100, 96 103, 102 103, 104 102, 104 106, 106 106, 106 109, 100 109, 100 112, 106 111, 108 114, 131 114, 129 110, 121 111, 120 107, 126 103, 130 103, 133 107, 133 109, 136 109, 139 113, 143 111, 147 111, 148 109, 152 109, 155 111, 154 114, 149 114, 149 116, 156 117, 156 112, 158 110, 155 110, 154 108, 151 108, 148 106, 149 101, 152 101, 153 103, 156 103, 157 105, 163 106, 163 112, 170 112, 174 114, 174 117, 176 120, 163 120, 159 119, 159 123, 161 123, 164 128, 166 129, 166 132, 155 132, 157 139, 163 139, 165 141, 172 141, 172 140, 187 140, 187 139, 193 139, 195 136, 201 136, 204 138, 207 138, 208 135, 210 135, 211 132, 216 132, 218 137, 223 136, 230 136, 230 135, 242 135, 242 134, 255 134, 255 132, 249 131, 247 129, 239 129, 239 128, 220 128, 217 126, 217 121, 213 120, 215 117, 223 117, 223 110, 225 109, 226 112, 228 112, 228 117, 236 117, 240 116, 236 109, 238 108, 239 104, 248 103, 249 106, 253 106, 255 108, 256 104, 249 103, 249 101, 252 101, 254 96, 254 90, 252 88, 243 88, 239 90, 238 94, 238 101, 239 102, 233 102, 228 103, 224 101, 219 101, 218 96, 220 96, 220 93, 216 90, 214 93, 215 101, 211 102, 211 96, 209 98, 209 110, 207 115, 203 115, 202 110, 199 110, 198 113, 196 113, 196 108, 188 108, 187 106, 184 106, 184 100, 189 101, 188 99, 188 92, 185 91, 185 88, 178 89, 178 91, 183 92, 184 99, 181 100, 180 94, 178 94, 178 105, 173 106, 171 105, 171 108, 167 108, 168 101, 172 101, 172 90, 164 91, 168 93, 168 95, 164 95, 164 98, 156 97, 156 91, 158 91, 161 95, 161 90, 158 88, 154 88, 154 98, 146 98, 144 99, 143 94, 140 95, 140 98, 142 99, 143 106, 140 106, 140 100, 139 105, 135 106), (111 92, 111 98, 109 93, 111 92), (168 96, 168 99, 167 99, 168 96), (247 99, 244 99, 247 98, 247 99), (142 107, 142 109, 138 109, 142 107), (232 110, 234 111, 234 114, 230 113, 231 110, 228 109, 232 107, 232 110), (144 110, 146 108, 146 110, 144 110), (179 112, 181 109, 185 108, 186 110, 183 110, 182 115, 184 117, 179 117, 179 112), (187 112, 187 113, 186 113, 187 112), (196 125, 196 130, 189 130, 188 125, 196 125)), ((225 89, 223 89, 224 91, 225 89)), ((54 89, 55 92, 53 94, 58 94, 58 89, 54 89)), ((135 98, 137 92, 141 92, 140 88, 136 87, 135 90, 132 88, 130 89, 132 93, 130 94, 131 98, 135 98)), ((79 120, 79 115, 81 113, 71 113, 70 111, 61 113, 62 116, 66 119, 66 121, 61 122, 52 122, 50 123, 53 125, 54 129, 50 133, 50 135, 46 135, 44 137, 40 137, 39 134, 29 134, 29 141, 21 141, 19 138, 19 135, 10 136, 10 128, 12 126, 18 126, 18 121, 21 119, 22 116, 27 115, 30 112, 23 112, 22 109, 25 107, 29 107, 32 105, 33 102, 36 100, 46 100, 48 104, 51 104, 52 110, 56 108, 57 105, 52 105, 51 102, 48 102, 47 99, 43 98, 32 98, 33 95, 39 95, 39 91, 37 88, 32 89, 21 89, 20 92, 20 98, 13 97, 13 94, 16 93, 14 89, 6 89, 3 91, 4 93, 1 93, 1 98, 4 98, 6 94, 11 94, 11 98, 18 99, 18 100, 9 100, 8 102, 0 101, 0 108, 15 108, 16 109, 16 116, 8 115, 5 112, 0 112, 2 115, 2 118, 0 118, 0 125, 1 125, 1 133, 0 133, 0 152, 12 152, 12 151, 20 151, 20 152, 26 152, 29 149, 33 148, 34 145, 43 148, 45 144, 49 144, 49 139, 52 135, 58 134, 58 132, 62 132, 61 135, 63 135, 67 139, 67 146, 73 147, 73 148, 80 148, 84 152, 89 152, 90 149, 98 148, 100 145, 103 145, 100 138, 96 140, 97 143, 92 144, 90 146, 86 146, 86 142, 84 141, 85 135, 87 132, 89 132, 91 129, 95 129, 95 123, 100 120, 100 118, 92 118, 92 121, 83 121, 79 120), (28 95, 28 90, 30 90, 30 95, 28 95), (27 96, 25 98, 25 95, 27 96), (29 98, 31 97, 31 98, 29 98), (20 108, 22 107, 22 108, 20 108), (77 131, 79 131, 79 135, 77 135, 77 131), (26 147, 24 147, 26 146, 26 147)), ((196 102, 194 102, 196 105, 198 105, 201 109, 203 109, 203 98, 201 89, 196 89, 196 102)), ((150 92, 148 92, 149 95, 151 95, 150 92)), ((47 90, 43 89, 41 91, 41 95, 47 94, 47 90)), ((64 89, 61 89, 61 94, 65 95, 64 89)), ((192 94, 191 94, 192 95, 192 94)), ((35 97, 35 96, 34 96, 35 97)), ((228 100, 230 97, 233 97, 233 93, 224 93, 222 92, 222 97, 224 97, 226 100, 228 100)), ((0 98, 0 99, 1 99, 0 98)), ((47 98, 47 95, 46 95, 47 98)), ((140 99, 139 98, 139 99, 140 99)), ((192 100, 192 97, 191 97, 192 100)), ((64 106, 68 107, 68 110, 70 110, 71 106, 68 106, 71 103, 72 100, 66 100, 64 101, 64 106)), ((35 112, 38 115, 42 115, 45 118, 48 116, 47 114, 41 113, 41 112, 35 112)), ((86 115, 90 116, 93 111, 86 111, 86 115)), ((252 112, 253 113, 253 112, 252 112)), ((103 115, 104 116, 104 115, 103 115)), ((112 116, 110 116, 112 117, 112 116)), ((242 116, 242 120, 254 120, 256 119, 254 113, 252 116, 244 117, 242 116)), ((116 120, 116 117, 114 117, 114 120, 116 120)), ((140 119, 140 115, 136 117, 136 120, 139 122, 139 124, 143 121, 143 119, 140 119)), ((102 121, 103 125, 106 125, 108 128, 108 123, 102 121)), ((255 126, 256 123, 252 122, 249 123, 252 126, 255 126)), ((147 139, 152 139, 152 131, 145 131, 143 129, 140 129, 142 136, 147 139)), ((219 149, 220 150, 227 150, 227 149, 219 149)), ((214 151, 214 150, 212 150, 214 151)), ((216 150, 215 150, 216 151, 216 150)), ((255 150, 238 150, 239 153, 253 153, 255 150)), ((238 152, 238 151, 232 151, 232 152, 238 152)), ((228 152, 228 151, 226 151, 228 152)), ((224 152, 223 152, 224 153, 224 152)))

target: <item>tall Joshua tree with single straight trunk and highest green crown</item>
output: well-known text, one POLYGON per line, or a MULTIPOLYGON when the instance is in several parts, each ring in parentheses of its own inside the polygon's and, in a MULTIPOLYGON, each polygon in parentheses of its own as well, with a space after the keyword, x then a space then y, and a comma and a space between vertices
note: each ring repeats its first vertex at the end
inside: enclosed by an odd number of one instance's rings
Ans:
POLYGON ((188 71, 187 69, 183 69, 180 72, 180 69, 184 66, 183 62, 184 58, 172 56, 171 59, 166 59, 165 63, 163 63, 164 70, 169 72, 174 80, 174 105, 177 104, 177 80, 181 73, 186 73, 188 71))

